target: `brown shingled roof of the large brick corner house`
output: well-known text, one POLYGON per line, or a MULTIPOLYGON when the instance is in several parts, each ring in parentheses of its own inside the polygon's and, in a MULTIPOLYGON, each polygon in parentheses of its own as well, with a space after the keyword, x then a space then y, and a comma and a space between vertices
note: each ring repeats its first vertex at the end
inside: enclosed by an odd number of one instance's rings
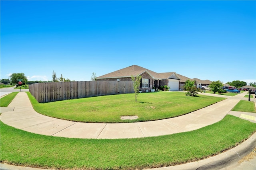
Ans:
POLYGON ((97 77, 97 79, 131 77, 131 76, 137 76, 138 74, 140 75, 144 72, 148 72, 148 74, 150 74, 150 76, 152 76, 152 78, 154 78, 154 79, 167 79, 170 76, 172 76, 173 74, 176 74, 176 72, 157 73, 152 70, 143 68, 141 66, 132 65, 132 66, 128 66, 126 68, 122 68, 120 70, 116 70, 114 72, 110 72, 103 76, 99 76, 99 77, 97 77))

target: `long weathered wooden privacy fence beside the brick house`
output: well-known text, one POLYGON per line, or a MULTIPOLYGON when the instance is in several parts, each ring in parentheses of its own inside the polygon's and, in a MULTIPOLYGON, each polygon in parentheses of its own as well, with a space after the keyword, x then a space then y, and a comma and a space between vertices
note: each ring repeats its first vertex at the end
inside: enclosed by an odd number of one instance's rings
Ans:
POLYGON ((94 96, 134 93, 132 81, 47 82, 29 85, 39 103, 94 96))

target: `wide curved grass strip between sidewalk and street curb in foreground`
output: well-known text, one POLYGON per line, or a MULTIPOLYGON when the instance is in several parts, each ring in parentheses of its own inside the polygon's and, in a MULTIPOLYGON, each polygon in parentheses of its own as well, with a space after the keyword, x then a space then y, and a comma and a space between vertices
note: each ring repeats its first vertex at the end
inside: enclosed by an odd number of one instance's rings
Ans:
POLYGON ((255 123, 232 115, 198 130, 137 139, 52 137, 1 122, 1 162, 76 170, 157 168, 219 154, 242 143, 255 131, 255 123))

